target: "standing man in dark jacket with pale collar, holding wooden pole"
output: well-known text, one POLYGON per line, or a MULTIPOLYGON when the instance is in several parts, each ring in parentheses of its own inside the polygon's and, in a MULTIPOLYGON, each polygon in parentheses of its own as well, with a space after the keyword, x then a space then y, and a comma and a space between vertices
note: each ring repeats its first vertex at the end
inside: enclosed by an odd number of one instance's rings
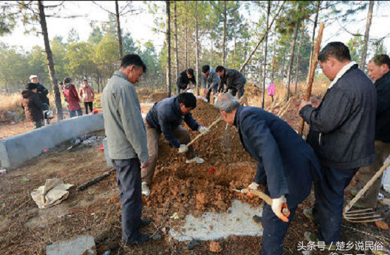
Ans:
POLYGON ((318 60, 332 83, 317 108, 305 101, 299 107, 299 115, 310 126, 308 143, 320 159, 324 177, 315 182, 313 211, 304 211, 320 223, 318 235, 307 232, 305 237, 336 244, 341 237, 344 188, 360 167, 375 162, 377 93, 341 42, 327 44, 318 60))

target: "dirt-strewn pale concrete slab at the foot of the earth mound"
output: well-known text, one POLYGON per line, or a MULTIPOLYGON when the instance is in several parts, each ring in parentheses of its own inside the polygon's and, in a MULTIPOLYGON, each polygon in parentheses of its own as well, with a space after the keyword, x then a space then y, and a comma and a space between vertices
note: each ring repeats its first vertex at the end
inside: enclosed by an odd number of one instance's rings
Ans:
POLYGON ((171 228, 169 235, 180 242, 218 240, 229 235, 263 235, 263 228, 252 219, 254 215, 262 216, 263 209, 233 200, 229 210, 231 214, 206 212, 201 218, 187 215, 184 225, 177 230, 171 228))

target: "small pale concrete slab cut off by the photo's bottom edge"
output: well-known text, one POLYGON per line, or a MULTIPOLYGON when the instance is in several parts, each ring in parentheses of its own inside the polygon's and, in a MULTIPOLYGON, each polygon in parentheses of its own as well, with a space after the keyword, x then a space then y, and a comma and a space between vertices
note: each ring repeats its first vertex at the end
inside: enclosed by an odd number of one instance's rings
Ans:
POLYGON ((54 242, 46 247, 46 255, 96 255, 94 237, 79 235, 72 240, 54 242))

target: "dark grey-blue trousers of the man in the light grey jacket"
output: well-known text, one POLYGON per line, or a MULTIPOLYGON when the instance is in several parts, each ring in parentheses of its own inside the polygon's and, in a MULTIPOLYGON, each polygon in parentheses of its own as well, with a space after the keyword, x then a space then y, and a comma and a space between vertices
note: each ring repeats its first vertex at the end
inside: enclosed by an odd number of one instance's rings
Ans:
POLYGON ((122 204, 122 241, 134 242, 141 223, 141 164, 139 159, 113 159, 122 204))

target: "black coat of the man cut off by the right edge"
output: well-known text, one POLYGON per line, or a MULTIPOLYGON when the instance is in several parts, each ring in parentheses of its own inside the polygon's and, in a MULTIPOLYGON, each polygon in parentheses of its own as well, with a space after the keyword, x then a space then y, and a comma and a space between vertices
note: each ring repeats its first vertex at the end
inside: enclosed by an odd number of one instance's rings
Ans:
POLYGON ((375 81, 377 89, 377 121, 375 140, 390 143, 390 71, 375 81))

